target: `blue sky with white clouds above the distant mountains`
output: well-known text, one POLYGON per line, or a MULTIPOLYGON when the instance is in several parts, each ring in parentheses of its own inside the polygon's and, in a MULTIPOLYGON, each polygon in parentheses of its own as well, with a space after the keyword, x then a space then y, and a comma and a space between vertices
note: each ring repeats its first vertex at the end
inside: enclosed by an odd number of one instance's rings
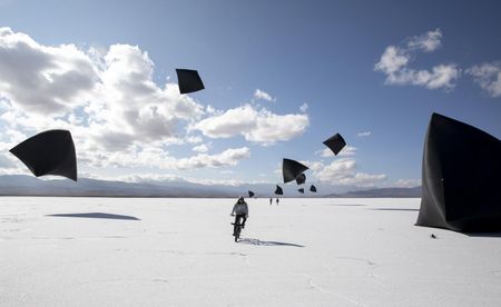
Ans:
MULTIPOLYGON (((501 137, 500 9, 0 0, 0 148, 67 128, 84 177, 279 182, 292 158, 310 182, 415 186, 432 112, 501 137), (176 68, 206 89, 179 96, 176 68), (335 132, 351 148, 323 157, 335 132)), ((27 170, 7 152, 0 171, 27 170)))

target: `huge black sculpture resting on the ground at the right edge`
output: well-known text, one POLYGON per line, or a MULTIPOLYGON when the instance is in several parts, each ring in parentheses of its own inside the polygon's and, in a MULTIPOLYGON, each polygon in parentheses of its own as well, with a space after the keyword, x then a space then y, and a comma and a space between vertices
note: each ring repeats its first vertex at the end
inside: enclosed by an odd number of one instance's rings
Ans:
POLYGON ((501 141, 433 113, 424 141, 416 225, 455 231, 501 230, 501 141))

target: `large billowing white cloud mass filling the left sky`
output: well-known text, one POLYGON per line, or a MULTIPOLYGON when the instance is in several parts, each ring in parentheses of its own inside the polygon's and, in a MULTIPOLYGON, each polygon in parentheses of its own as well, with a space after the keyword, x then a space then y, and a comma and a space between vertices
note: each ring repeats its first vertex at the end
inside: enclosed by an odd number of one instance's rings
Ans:
MULTIPOLYGON (((157 85, 155 63, 137 46, 43 46, 0 28, 0 142, 8 148, 59 128, 71 131, 87 167, 216 168, 250 155, 246 147, 207 155, 199 146, 193 157, 170 156, 169 145, 203 141, 183 128, 210 107, 180 95, 176 83, 157 85)), ((1 157, 0 164, 10 166, 1 157)))

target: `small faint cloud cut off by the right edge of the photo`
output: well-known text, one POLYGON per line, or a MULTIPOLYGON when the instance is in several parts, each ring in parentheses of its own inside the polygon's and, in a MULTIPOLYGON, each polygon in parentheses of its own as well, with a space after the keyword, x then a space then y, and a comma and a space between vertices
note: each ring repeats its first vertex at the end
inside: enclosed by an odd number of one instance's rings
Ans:
POLYGON ((473 66, 466 73, 491 97, 501 96, 501 62, 473 66))

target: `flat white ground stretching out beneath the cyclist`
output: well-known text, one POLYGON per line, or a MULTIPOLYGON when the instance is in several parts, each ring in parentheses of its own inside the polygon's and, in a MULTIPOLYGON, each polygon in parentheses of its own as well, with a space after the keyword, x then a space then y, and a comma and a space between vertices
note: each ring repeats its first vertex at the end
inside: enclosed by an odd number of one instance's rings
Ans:
POLYGON ((419 199, 248 202, 235 244, 234 199, 0 198, 0 306, 501 305, 501 234, 419 199))

